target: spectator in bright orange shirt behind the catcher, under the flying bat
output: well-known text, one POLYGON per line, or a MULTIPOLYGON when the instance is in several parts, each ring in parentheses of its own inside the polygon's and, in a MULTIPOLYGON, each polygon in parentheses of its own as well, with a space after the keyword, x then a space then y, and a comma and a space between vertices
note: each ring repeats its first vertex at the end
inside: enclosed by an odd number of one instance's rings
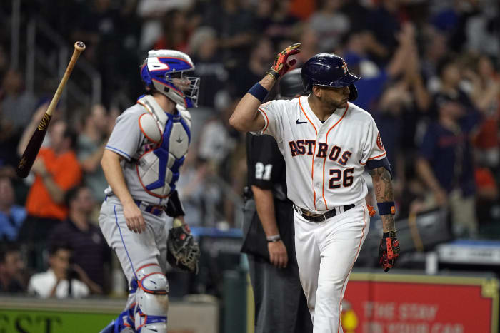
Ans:
POLYGON ((19 238, 28 245, 43 245, 50 230, 68 215, 66 191, 81 181, 81 167, 74 152, 76 135, 65 121, 49 128, 50 146, 41 148, 31 170, 35 181, 26 198, 28 217, 19 238))

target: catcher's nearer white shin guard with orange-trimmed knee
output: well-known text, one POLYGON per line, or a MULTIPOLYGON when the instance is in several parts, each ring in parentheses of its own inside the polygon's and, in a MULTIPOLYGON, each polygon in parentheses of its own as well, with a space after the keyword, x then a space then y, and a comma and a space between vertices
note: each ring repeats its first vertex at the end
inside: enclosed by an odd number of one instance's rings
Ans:
POLYGON ((169 282, 156 264, 144 265, 136 271, 135 324, 138 333, 166 333, 169 309, 169 282))

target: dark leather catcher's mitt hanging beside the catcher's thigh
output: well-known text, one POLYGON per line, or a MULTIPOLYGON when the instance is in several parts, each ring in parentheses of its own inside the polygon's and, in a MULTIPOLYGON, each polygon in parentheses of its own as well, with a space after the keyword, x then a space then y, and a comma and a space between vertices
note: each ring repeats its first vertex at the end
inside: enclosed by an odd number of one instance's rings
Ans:
POLYGON ((166 247, 166 260, 172 267, 198 273, 200 248, 194 241, 188 225, 182 223, 181 220, 174 219, 166 247))

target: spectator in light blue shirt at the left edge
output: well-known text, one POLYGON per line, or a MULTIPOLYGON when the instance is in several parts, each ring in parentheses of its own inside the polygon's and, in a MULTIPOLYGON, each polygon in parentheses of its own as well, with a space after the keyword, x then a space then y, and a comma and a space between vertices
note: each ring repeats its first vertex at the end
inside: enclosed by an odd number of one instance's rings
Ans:
POLYGON ((0 240, 2 242, 16 241, 25 219, 26 209, 14 205, 14 188, 11 179, 0 176, 0 240))

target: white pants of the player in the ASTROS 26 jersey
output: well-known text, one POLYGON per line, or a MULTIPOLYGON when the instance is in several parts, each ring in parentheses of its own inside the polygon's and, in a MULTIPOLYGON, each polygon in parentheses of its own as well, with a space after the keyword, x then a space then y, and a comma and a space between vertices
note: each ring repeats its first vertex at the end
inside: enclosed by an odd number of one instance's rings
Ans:
POLYGON ((295 210, 295 251, 314 333, 343 332, 341 301, 370 225, 365 200, 324 222, 310 222, 295 210))

